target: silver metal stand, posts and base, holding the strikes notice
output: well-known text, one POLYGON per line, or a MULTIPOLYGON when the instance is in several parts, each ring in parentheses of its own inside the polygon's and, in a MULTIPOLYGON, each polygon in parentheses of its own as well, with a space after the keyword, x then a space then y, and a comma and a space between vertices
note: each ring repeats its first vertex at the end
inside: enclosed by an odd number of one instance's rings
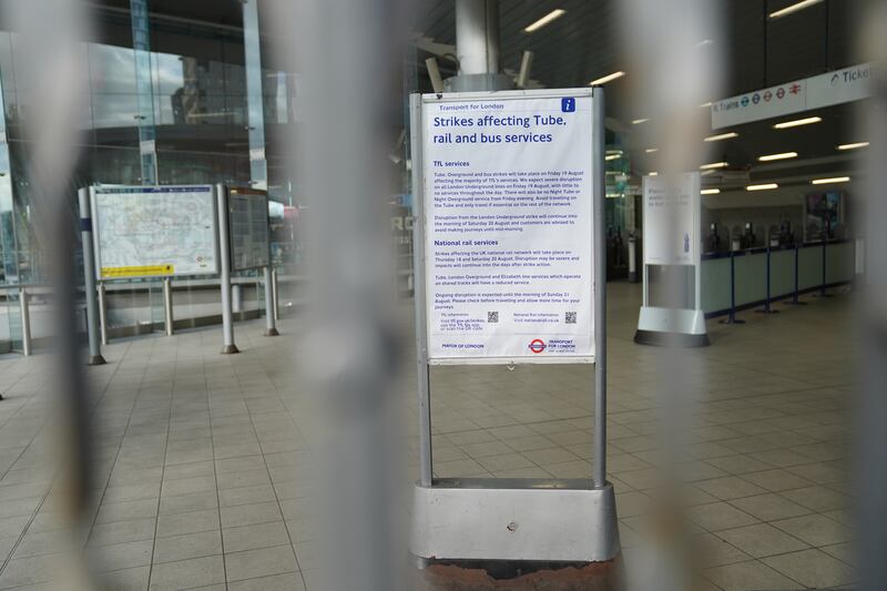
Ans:
POLYGON ((432 561, 605 562, 620 552, 615 496, 606 482, 606 265, 603 90, 593 89, 595 415, 591 479, 435 479, 426 309, 422 96, 410 96, 420 476, 410 551, 432 561))

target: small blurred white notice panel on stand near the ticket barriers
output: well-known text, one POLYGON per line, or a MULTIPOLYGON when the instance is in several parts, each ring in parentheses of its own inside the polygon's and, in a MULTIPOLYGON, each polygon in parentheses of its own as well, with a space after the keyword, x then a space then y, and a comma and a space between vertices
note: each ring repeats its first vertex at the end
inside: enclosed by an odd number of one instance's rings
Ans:
POLYGON ((695 265, 700 257, 701 175, 644 176, 644 264, 695 265))

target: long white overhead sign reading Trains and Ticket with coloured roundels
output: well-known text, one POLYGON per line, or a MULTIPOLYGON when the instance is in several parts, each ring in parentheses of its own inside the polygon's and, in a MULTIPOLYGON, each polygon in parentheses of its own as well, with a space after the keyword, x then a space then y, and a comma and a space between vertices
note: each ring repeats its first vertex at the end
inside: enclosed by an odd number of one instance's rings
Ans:
POLYGON ((712 103, 712 129, 820 109, 871 95, 869 64, 854 65, 712 103))

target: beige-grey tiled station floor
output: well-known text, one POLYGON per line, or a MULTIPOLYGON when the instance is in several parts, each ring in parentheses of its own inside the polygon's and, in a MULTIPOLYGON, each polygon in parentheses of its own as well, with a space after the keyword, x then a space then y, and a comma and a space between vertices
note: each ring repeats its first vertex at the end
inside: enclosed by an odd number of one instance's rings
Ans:
MULTIPOLYGON (((680 473, 708 588, 852 583, 852 296, 746 313, 742 326, 710 323, 711 347, 673 358, 632 343, 638 287, 610 292, 608 471, 629 574, 661 498, 663 384, 674 373, 680 473)), ((296 320, 282 329, 296 332, 296 320)), ((218 333, 118 342, 105 349, 110 364, 90 369, 100 497, 83 539, 113 589, 315 589, 309 426, 293 348, 243 323, 244 353, 221 356, 218 333)), ((0 358, 0 589, 50 580, 64 541, 49 495, 59 435, 49 359, 0 358)), ((400 383, 415 435, 411 368, 400 383)), ((590 368, 440 368, 432 388, 438 476, 590 475, 590 368)), ((407 444, 415 475, 417 444, 407 444)))

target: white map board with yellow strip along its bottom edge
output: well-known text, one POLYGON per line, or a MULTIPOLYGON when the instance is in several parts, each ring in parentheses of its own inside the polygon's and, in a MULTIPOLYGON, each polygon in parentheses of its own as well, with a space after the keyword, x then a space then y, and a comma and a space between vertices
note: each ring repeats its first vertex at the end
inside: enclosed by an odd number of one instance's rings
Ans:
POLYGON ((218 273, 211 185, 92 190, 99 279, 218 273))

